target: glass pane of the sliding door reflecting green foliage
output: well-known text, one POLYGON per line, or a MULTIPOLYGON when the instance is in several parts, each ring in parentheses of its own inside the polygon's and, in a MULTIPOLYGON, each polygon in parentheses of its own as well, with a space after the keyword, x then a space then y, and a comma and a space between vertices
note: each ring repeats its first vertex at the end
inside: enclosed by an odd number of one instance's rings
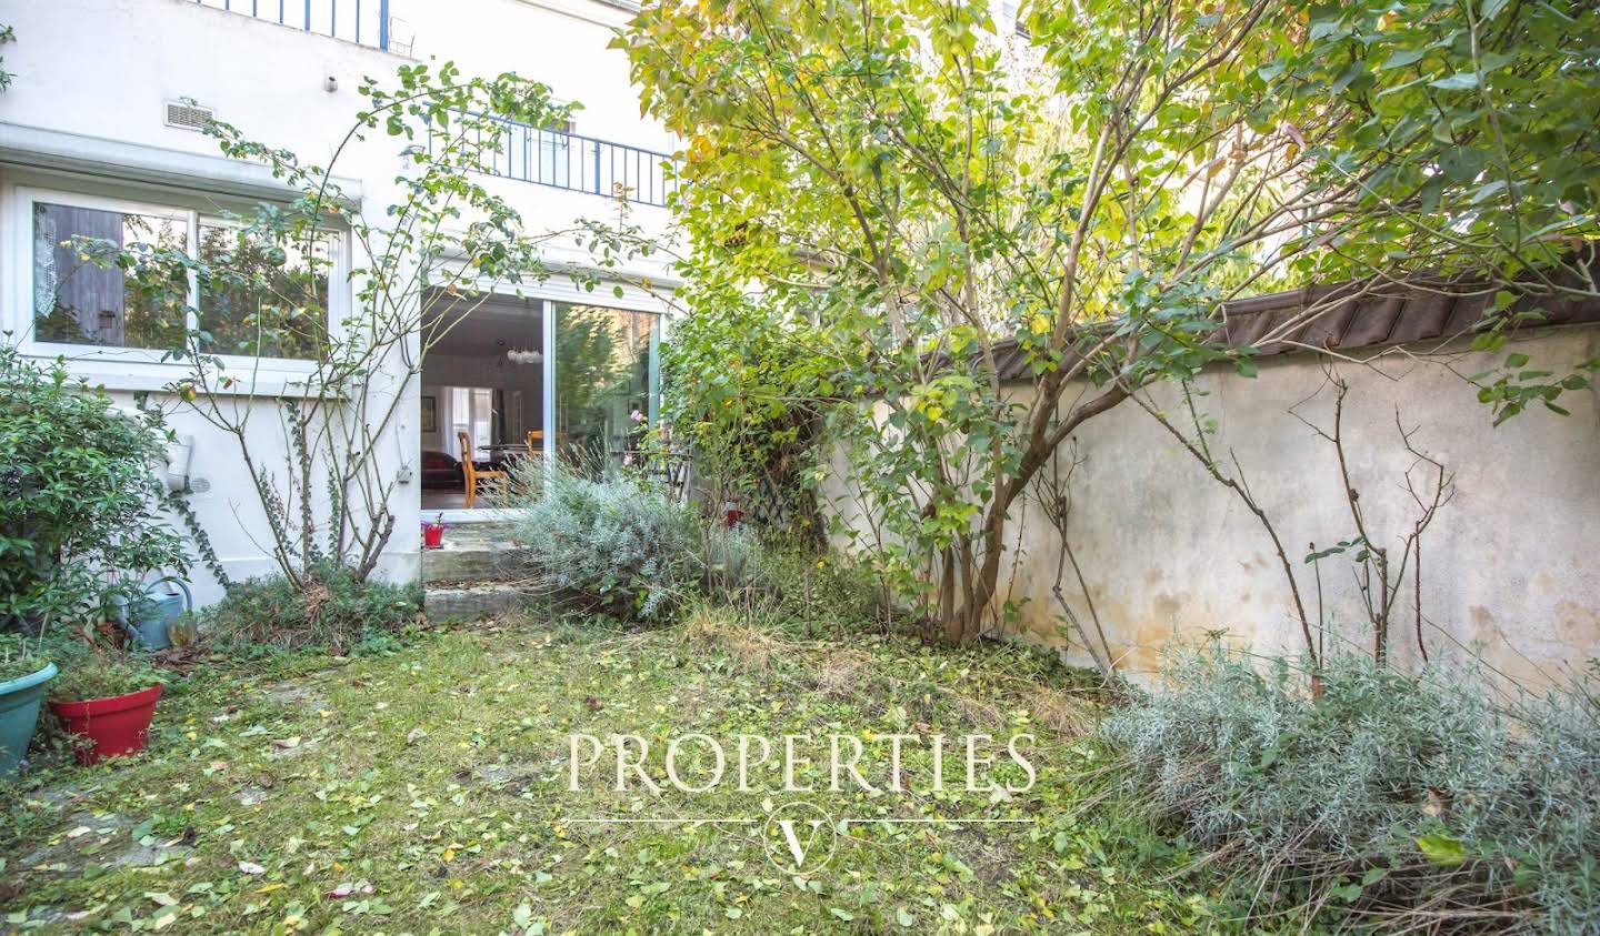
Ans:
POLYGON ((651 413, 656 315, 555 304, 555 432, 582 467, 619 464, 651 413))

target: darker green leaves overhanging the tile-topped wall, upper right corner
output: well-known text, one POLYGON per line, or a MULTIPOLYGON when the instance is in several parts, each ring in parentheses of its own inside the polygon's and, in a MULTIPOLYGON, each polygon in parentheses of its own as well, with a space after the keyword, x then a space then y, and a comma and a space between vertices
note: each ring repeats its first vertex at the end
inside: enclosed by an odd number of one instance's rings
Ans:
MULTIPOLYGON (((1499 350, 1515 330, 1600 298, 1600 10, 1506 0, 1298 6, 1304 29, 1250 80, 1293 80, 1349 107, 1336 133, 1307 141, 1317 190, 1358 186, 1368 208, 1330 251, 1333 269, 1466 277, 1491 296, 1474 350, 1499 350), (1374 147, 1389 154, 1376 165, 1365 158, 1374 147)), ((1306 254, 1294 267, 1325 275, 1330 256, 1306 254)), ((1512 354, 1472 381, 1499 424, 1531 403, 1566 414, 1557 398, 1589 387, 1597 368, 1590 360, 1555 373, 1512 354)))

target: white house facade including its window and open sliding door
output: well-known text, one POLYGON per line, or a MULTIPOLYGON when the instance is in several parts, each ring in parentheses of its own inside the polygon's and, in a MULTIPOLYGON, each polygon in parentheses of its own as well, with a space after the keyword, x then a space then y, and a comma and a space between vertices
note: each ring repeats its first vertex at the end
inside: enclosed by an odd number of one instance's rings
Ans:
MULTIPOLYGON (((362 78, 382 80, 410 62, 453 61, 466 75, 515 72, 581 106, 563 128, 507 123, 506 163, 483 174, 530 230, 616 218, 616 192, 626 190, 629 221, 662 235, 672 184, 662 163, 677 144, 640 118, 627 58, 608 48, 629 16, 621 0, 5 0, 0 26, 16 37, 0 48, 13 75, 0 91, 5 341, 40 360, 64 357, 72 373, 123 403, 160 395, 186 368, 163 360, 173 334, 123 304, 115 270, 67 277, 74 258, 62 242, 138 229, 203 253, 229 213, 293 195, 264 166, 221 155, 197 130, 208 117, 326 163, 363 104, 362 78)), ((341 189, 368 218, 395 200, 402 146, 374 134, 338 158, 341 189)), ((341 230, 328 232, 328 317, 339 322, 355 302, 341 274, 362 258, 341 230)), ((576 242, 552 242, 546 262, 581 269, 590 261, 576 242)), ((379 574, 418 574, 422 520, 482 514, 469 510, 464 461, 528 448, 554 454, 568 442, 614 456, 658 413, 669 270, 640 259, 600 275, 614 282, 587 291, 555 275, 490 299, 430 352, 421 379, 395 386, 398 414, 374 451, 397 480, 379 574), (621 379, 603 390, 574 389, 555 352, 562 330, 579 322, 603 322, 618 336, 621 379)), ((264 413, 312 366, 293 347, 261 358, 222 352, 234 373, 246 374, 234 387, 238 406, 264 413)), ((182 405, 168 408, 186 443, 173 472, 221 566, 232 579, 270 573, 267 517, 237 440, 182 405)), ((280 419, 253 422, 258 430, 256 450, 286 464, 280 419)), ((190 578, 200 602, 221 595, 202 565, 190 578)))

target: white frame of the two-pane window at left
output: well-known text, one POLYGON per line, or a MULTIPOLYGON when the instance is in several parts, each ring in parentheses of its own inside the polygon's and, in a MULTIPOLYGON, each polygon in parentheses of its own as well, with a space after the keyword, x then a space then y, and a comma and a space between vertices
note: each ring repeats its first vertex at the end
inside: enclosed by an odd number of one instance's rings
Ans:
MULTIPOLYGON (((70 182, 70 179, 62 179, 62 182, 70 182)), ((85 182, 85 187, 102 189, 104 186, 85 182)), ((34 334, 35 326, 35 282, 34 282, 34 205, 64 205, 70 208, 88 208, 94 211, 120 211, 128 214, 152 214, 160 218, 182 219, 187 224, 189 237, 186 250, 189 256, 198 256, 200 250, 200 224, 219 224, 219 226, 237 226, 237 222, 222 218, 219 211, 226 210, 224 202, 237 202, 232 198, 216 198, 219 205, 210 208, 195 208, 195 198, 182 197, 174 194, 171 202, 162 200, 163 192, 160 190, 141 190, 139 194, 131 194, 128 197, 120 194, 91 194, 78 190, 74 187, 46 187, 29 182, 16 182, 6 186, 5 192, 5 218, 6 224, 0 226, 8 232, 8 245, 3 248, 5 266, 10 267, 3 280, 10 283, 6 290, 3 306, 5 314, 0 315, 0 331, 10 331, 11 341, 18 344, 18 350, 29 357, 64 357, 69 366, 88 365, 88 368, 77 366, 75 370, 90 370, 91 376, 114 376, 115 371, 104 371, 96 365, 133 365, 144 373, 152 371, 157 376, 165 376, 165 379, 179 378, 184 373, 192 373, 194 365, 184 360, 162 360, 166 349, 142 349, 142 347, 114 347, 114 346, 96 346, 96 344, 69 344, 58 341, 40 341, 34 334), (187 203, 187 205, 186 205, 187 203)), ((243 205, 240 205, 243 208, 243 205)), ((350 235, 349 230, 330 226, 326 229, 334 237, 334 262, 328 269, 328 333, 330 336, 339 338, 344 333, 344 322, 350 317, 354 307, 352 283, 350 283, 350 235)), ((195 277, 189 278, 189 306, 197 306, 200 285, 195 277)), ((189 314, 187 330, 194 331, 198 325, 194 312, 189 314)), ((254 355, 234 355, 234 354, 216 354, 211 355, 222 362, 224 373, 235 376, 242 384, 242 392, 250 390, 250 384, 254 381, 251 378, 296 378, 306 376, 317 370, 317 362, 307 358, 277 358, 277 357, 254 357, 254 355)), ((123 371, 126 373, 126 371, 123 371)), ((115 387, 114 387, 115 389, 115 387)), ((146 387, 157 389, 157 387, 146 387)))

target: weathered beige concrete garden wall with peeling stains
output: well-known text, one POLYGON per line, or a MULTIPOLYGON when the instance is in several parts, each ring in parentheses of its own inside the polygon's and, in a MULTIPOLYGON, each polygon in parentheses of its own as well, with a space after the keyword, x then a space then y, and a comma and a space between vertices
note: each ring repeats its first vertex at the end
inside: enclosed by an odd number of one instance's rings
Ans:
MULTIPOLYGON (((1507 350, 1566 373, 1600 354, 1600 330, 1546 330, 1507 350)), ((1488 406, 1458 374, 1488 370, 1502 354, 1419 360, 1390 352, 1366 366, 1338 363, 1336 373, 1350 387, 1346 451, 1370 533, 1392 554, 1419 514, 1405 490, 1416 458, 1405 450, 1397 410, 1408 429, 1416 427, 1416 448, 1454 472, 1454 499, 1422 539, 1429 653, 1477 651, 1512 678, 1544 683, 1600 656, 1600 406, 1592 389, 1570 392, 1562 405, 1571 416, 1541 406, 1494 427, 1488 406)), ((1323 362, 1314 355, 1262 358, 1256 378, 1214 370, 1197 381, 1205 394, 1197 403, 1218 421, 1213 451, 1224 461, 1232 451, 1243 466, 1285 542, 1314 626, 1317 579, 1304 563, 1307 546, 1355 534, 1333 446, 1294 416, 1331 426, 1333 390, 1314 397, 1323 384, 1323 362)), ((1171 390, 1157 394, 1166 408, 1179 400, 1171 390)), ((1149 675, 1173 637, 1213 630, 1261 654, 1299 651, 1299 626, 1272 541, 1155 419, 1125 403, 1083 426, 1061 454, 1061 472, 1069 450, 1082 459, 1070 485, 1074 554, 1125 672, 1149 675)), ((848 523, 864 528, 848 472, 835 475, 829 501, 848 523)), ((1427 485, 1421 472, 1413 478, 1419 490, 1427 485)), ((1090 662, 1051 597, 1061 541, 1037 499, 1013 515, 1010 531, 1018 549, 1003 581, 1022 603, 1024 635, 1064 648, 1074 662, 1090 662)), ((1342 640, 1370 648, 1354 562, 1331 557, 1318 570, 1328 646, 1342 640)), ((1390 635, 1392 653, 1403 662, 1418 659, 1411 587, 1408 573, 1390 635)), ((1064 594, 1088 624, 1070 566, 1064 594)))

